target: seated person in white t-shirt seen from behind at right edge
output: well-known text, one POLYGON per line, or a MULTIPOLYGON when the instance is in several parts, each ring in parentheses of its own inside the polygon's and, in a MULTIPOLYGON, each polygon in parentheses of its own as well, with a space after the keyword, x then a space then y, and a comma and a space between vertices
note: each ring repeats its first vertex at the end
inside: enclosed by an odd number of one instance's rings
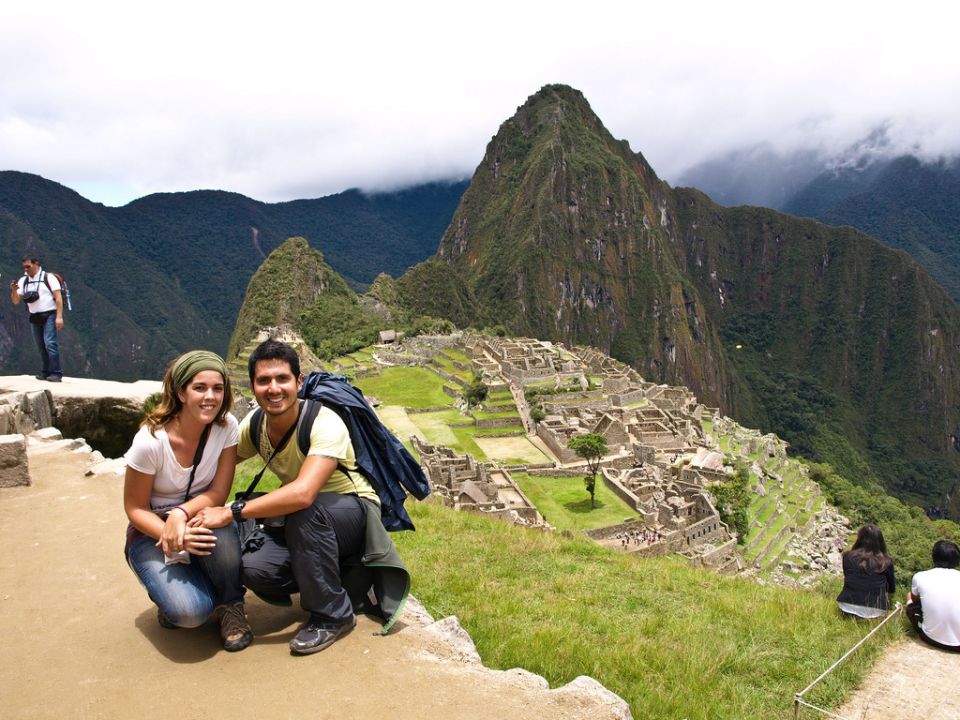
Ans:
POLYGON ((920 639, 960 652, 960 548, 949 540, 933 545, 933 569, 913 576, 906 613, 920 639))

